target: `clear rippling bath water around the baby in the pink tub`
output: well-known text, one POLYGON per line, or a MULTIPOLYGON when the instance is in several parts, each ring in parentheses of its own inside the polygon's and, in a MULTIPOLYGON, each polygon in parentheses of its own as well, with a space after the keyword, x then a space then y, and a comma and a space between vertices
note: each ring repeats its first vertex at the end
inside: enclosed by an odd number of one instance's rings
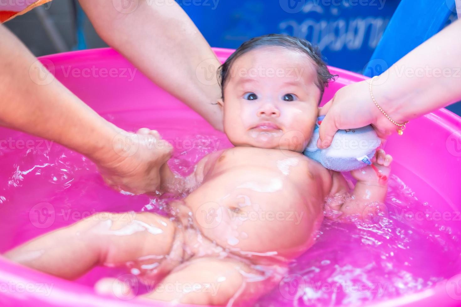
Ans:
MULTIPOLYGON (((208 153, 231 146, 223 133, 195 125, 194 119, 171 127, 177 121, 146 114, 103 116, 130 131, 157 129, 175 146, 169 164, 179 174, 190 173, 208 153)), ((113 191, 86 157, 24 133, 12 133, 11 141, 1 144, 0 161, 0 232, 9 234, 2 237, 0 252, 100 211, 162 213, 169 201, 113 191)), ((459 213, 437 212, 395 175, 376 213, 369 223, 325 219, 313 247, 257 305, 363 304, 426 289, 461 269, 460 234, 447 222, 461 219, 459 213)), ((93 286, 103 276, 124 273, 95 268, 76 282, 93 286)), ((145 289, 140 285, 136 291, 145 289)))

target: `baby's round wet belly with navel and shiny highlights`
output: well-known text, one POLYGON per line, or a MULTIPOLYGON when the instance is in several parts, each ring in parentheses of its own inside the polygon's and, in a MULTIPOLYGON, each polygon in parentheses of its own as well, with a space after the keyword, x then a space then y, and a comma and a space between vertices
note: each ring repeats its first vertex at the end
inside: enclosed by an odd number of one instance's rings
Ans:
POLYGON ((289 261, 312 245, 323 217, 322 199, 300 186, 278 172, 236 169, 207 180, 185 203, 203 235, 223 248, 289 261))

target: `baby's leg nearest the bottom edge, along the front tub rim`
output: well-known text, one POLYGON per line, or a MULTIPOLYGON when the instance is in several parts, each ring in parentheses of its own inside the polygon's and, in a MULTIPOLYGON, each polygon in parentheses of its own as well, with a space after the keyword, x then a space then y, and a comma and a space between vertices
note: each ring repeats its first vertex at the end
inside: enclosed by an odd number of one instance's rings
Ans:
POLYGON ((170 272, 143 298, 197 305, 247 305, 271 290, 280 278, 234 259, 195 258, 170 272))

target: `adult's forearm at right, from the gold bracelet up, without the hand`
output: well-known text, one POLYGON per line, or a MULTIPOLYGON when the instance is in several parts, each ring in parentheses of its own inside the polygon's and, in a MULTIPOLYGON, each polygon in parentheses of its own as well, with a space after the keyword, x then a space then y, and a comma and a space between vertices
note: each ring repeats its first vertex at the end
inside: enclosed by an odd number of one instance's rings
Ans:
POLYGON ((461 21, 456 21, 381 75, 373 92, 383 109, 411 120, 460 100, 460 35, 461 21))

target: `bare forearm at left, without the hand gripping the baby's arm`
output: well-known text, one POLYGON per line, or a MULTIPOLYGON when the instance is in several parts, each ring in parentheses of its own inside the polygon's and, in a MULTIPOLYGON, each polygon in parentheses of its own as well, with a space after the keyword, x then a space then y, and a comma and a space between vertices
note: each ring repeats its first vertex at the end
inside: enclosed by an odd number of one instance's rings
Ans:
POLYGON ((59 81, 0 25, 0 124, 51 139, 92 159, 109 151, 116 128, 59 81))

